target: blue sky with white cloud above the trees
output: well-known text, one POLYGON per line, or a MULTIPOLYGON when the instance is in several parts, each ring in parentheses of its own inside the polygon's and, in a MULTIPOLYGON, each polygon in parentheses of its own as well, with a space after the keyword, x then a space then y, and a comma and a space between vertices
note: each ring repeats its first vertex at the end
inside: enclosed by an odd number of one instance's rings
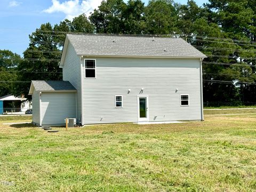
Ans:
MULTIPOLYGON (((174 0, 186 4, 187 0, 174 0)), ((8 49, 23 56, 29 44, 28 35, 42 23, 52 25, 83 12, 87 15, 101 0, 0 0, 0 50, 8 49)), ((144 0, 147 3, 147 0, 144 0)), ((207 0, 196 0, 198 5, 207 0)))

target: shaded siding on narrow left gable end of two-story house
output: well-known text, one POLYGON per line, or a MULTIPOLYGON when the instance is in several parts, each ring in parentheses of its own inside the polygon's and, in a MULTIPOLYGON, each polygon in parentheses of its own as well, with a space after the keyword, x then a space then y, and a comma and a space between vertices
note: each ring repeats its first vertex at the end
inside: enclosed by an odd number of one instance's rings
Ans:
POLYGON ((62 68, 63 81, 69 81, 77 90, 77 123, 81 121, 81 63, 80 58, 76 55, 74 47, 68 43, 67 53, 62 68))

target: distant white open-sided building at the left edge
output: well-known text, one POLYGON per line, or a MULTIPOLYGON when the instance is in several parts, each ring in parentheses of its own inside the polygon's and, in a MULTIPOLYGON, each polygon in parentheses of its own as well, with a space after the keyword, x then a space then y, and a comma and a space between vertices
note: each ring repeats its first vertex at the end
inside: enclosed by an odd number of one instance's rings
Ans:
POLYGON ((11 94, 0 97, 0 115, 25 114, 25 111, 31 108, 31 101, 27 98, 15 97, 11 94))

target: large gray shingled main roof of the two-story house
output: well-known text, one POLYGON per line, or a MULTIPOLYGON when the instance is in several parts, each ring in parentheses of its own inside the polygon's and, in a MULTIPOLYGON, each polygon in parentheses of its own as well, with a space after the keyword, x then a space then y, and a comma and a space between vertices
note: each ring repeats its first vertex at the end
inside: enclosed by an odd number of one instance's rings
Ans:
POLYGON ((71 35, 67 38, 77 55, 205 58, 182 38, 110 35, 71 35), (166 50, 166 51, 164 51, 166 50))

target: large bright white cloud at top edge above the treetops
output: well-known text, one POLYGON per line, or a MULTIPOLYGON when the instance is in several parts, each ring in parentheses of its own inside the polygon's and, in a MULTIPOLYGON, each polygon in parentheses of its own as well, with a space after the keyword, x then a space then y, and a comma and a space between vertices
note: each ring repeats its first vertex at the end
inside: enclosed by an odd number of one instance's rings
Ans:
POLYGON ((96 9, 102 0, 69 0, 63 3, 60 3, 58 0, 52 0, 52 6, 48 9, 43 10, 45 13, 55 13, 62 12, 66 14, 66 18, 72 20, 74 17, 85 13, 86 16, 90 15, 90 12, 93 12, 96 9))

